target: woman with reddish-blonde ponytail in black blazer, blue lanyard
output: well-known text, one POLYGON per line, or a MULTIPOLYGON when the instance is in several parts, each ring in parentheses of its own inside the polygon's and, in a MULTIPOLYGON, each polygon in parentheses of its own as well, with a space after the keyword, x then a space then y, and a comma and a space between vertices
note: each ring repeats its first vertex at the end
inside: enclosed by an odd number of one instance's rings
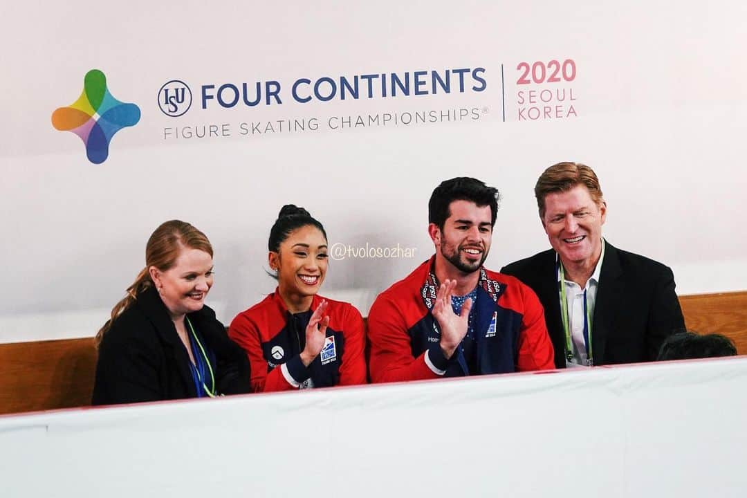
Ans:
POLYGON ((247 355, 205 306, 212 256, 189 223, 153 232, 146 267, 96 335, 93 405, 249 392, 247 355))

